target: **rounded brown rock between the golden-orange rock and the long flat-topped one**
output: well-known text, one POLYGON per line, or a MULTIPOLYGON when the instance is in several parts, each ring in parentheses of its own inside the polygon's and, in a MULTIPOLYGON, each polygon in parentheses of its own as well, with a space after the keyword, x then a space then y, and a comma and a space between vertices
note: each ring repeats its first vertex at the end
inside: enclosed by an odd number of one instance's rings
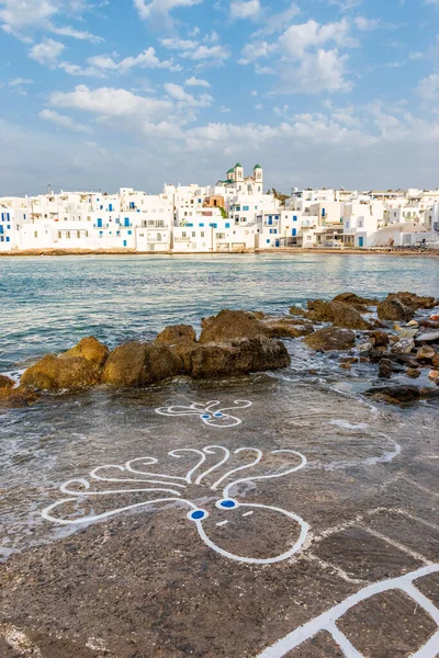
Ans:
POLYGON ((113 350, 102 382, 115 386, 146 386, 182 372, 182 362, 167 344, 128 342, 113 350))

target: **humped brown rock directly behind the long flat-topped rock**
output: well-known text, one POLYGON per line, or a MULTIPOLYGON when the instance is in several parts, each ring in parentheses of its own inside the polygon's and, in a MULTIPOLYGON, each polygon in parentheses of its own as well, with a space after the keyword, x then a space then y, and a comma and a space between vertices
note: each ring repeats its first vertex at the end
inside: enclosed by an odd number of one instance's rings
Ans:
POLYGON ((270 337, 270 330, 245 310, 222 310, 201 322, 200 343, 224 343, 237 339, 270 337))

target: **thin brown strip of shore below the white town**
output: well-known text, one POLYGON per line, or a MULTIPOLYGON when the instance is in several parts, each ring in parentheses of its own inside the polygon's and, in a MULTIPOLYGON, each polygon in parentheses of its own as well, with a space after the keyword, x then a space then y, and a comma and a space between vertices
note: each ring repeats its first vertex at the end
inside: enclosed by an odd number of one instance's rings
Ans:
POLYGON ((175 253, 172 251, 135 251, 133 249, 29 249, 23 251, 0 251, 0 258, 13 257, 66 257, 66 256, 175 256, 175 257, 193 257, 193 256, 260 256, 274 253, 290 254, 331 254, 331 256, 420 256, 427 258, 438 258, 439 249, 391 249, 386 247, 376 249, 330 249, 330 248, 299 248, 299 247, 280 247, 277 249, 257 249, 247 251, 196 251, 189 253, 175 253))

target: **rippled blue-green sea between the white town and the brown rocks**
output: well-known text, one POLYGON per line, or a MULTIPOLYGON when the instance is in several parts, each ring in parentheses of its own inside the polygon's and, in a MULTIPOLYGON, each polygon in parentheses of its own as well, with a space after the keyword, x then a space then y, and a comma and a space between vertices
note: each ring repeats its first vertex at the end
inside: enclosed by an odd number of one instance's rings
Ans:
POLYGON ((439 296, 439 260, 266 254, 0 259, 0 372, 93 334, 109 347, 222 308, 283 311, 342 291, 439 296))

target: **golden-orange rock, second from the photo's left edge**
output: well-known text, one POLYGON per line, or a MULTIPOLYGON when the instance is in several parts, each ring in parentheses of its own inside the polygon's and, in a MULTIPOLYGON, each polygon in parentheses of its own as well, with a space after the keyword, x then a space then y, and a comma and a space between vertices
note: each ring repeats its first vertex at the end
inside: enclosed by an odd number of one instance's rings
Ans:
POLYGON ((37 390, 79 390, 99 384, 100 377, 100 370, 83 356, 46 354, 25 371, 21 385, 37 390))

